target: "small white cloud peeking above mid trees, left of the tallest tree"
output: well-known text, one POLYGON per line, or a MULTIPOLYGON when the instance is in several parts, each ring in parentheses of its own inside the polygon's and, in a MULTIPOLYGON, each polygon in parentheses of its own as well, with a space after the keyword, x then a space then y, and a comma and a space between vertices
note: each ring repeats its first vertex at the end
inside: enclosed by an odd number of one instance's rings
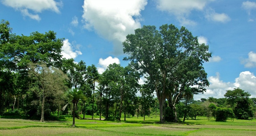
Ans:
POLYGON ((109 66, 110 64, 114 64, 114 63, 120 64, 120 60, 119 60, 117 57, 114 57, 114 58, 113 58, 113 57, 111 57, 111 56, 109 56, 109 57, 107 57, 107 58, 105 58, 105 59, 100 58, 100 59, 99 59, 99 63, 98 63, 99 67, 97 67, 98 72, 99 72, 100 74, 102 74, 102 73, 108 68, 108 66, 109 66))

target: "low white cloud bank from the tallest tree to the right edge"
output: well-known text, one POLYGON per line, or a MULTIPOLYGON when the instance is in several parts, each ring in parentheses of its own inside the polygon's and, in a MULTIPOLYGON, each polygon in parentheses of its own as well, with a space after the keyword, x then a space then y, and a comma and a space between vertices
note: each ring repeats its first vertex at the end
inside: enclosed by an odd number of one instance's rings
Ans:
POLYGON ((256 77, 250 71, 241 72, 239 77, 234 80, 234 83, 223 82, 219 73, 216 73, 216 76, 209 77, 208 81, 210 82, 210 86, 205 87, 207 89, 206 92, 204 94, 194 95, 195 100, 208 97, 224 98, 227 90, 233 90, 238 87, 245 92, 248 91, 252 95, 251 97, 256 97, 256 77))

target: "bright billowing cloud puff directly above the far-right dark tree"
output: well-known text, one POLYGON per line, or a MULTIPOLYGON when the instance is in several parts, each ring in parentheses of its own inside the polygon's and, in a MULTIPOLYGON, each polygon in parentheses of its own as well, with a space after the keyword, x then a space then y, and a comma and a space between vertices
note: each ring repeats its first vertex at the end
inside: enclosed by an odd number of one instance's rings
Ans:
POLYGON ((236 78, 234 86, 243 89, 245 92, 248 91, 252 97, 256 97, 256 77, 250 71, 244 71, 239 74, 236 78))

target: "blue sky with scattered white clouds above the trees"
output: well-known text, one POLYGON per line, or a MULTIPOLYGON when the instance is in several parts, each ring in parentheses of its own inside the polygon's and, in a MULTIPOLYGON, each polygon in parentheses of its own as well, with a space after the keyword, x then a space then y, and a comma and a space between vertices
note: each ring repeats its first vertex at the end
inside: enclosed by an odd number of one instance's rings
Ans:
POLYGON ((237 87, 256 97, 256 0, 0 0, 0 19, 16 35, 56 32, 65 38, 63 57, 100 73, 128 65, 122 42, 135 29, 184 26, 212 53, 203 64, 210 86, 195 100, 224 98, 237 87))

